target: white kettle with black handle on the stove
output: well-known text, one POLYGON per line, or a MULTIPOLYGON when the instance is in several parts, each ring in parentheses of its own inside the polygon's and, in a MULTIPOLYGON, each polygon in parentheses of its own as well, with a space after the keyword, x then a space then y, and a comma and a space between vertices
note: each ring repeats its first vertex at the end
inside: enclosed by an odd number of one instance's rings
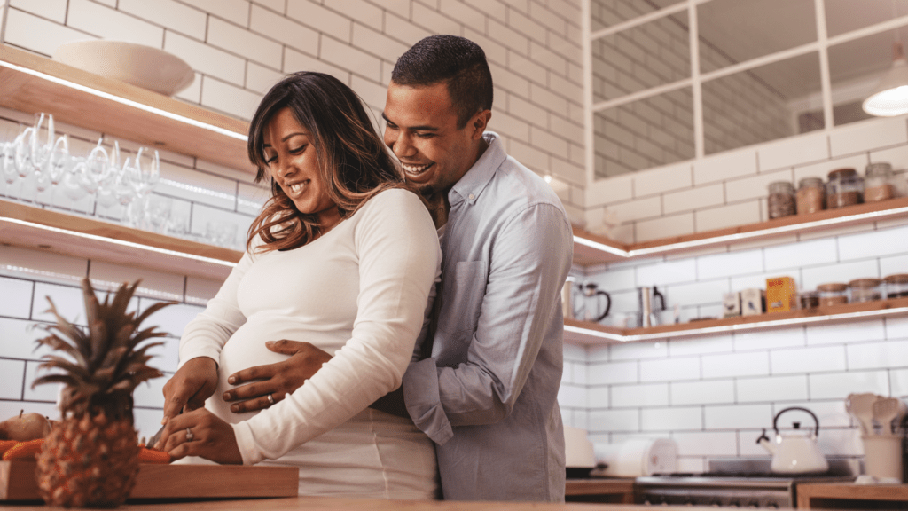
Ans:
POLYGON ((785 408, 775 415, 773 419, 773 429, 775 429, 775 442, 770 441, 766 436, 766 430, 763 435, 756 439, 756 443, 763 446, 770 454, 773 455, 773 463, 770 470, 777 474, 804 474, 804 473, 822 473, 829 470, 829 463, 826 462, 825 456, 820 452, 820 447, 816 445, 816 436, 820 434, 820 421, 817 420, 814 412, 800 406, 785 408), (779 433, 779 416, 791 410, 801 410, 814 417, 814 431, 807 435, 801 434, 801 423, 793 422, 795 433, 783 436, 779 433))

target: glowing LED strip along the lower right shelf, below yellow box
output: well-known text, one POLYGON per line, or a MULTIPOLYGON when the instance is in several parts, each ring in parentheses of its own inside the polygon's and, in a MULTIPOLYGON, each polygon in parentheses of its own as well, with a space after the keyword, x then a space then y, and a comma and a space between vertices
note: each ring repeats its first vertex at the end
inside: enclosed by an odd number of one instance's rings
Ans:
POLYGON ((612 341, 618 341, 622 343, 632 342, 632 341, 648 341, 652 339, 668 339, 673 337, 686 337, 686 336, 705 336, 708 334, 722 334, 725 332, 745 332, 747 330, 755 330, 759 328, 770 328, 777 326, 788 326, 788 325, 805 325, 808 323, 818 323, 821 321, 829 320, 844 320, 844 319, 860 319, 873 316, 891 316, 896 314, 905 314, 908 313, 908 307, 896 307, 888 309, 877 309, 870 311, 862 312, 845 312, 841 314, 828 314, 825 316, 804 316, 804 317, 793 317, 789 319, 767 319, 766 321, 759 321, 755 323, 739 323, 736 325, 724 325, 724 326, 707 326, 706 328, 692 328, 689 330, 677 330, 675 332, 665 332, 662 334, 640 334, 637 336, 624 336, 621 334, 609 334, 607 332, 600 332, 598 330, 593 330, 589 328, 581 328, 579 326, 569 326, 565 325, 566 332, 574 332, 576 334, 581 334, 584 336, 595 336, 603 339, 608 339, 612 341))

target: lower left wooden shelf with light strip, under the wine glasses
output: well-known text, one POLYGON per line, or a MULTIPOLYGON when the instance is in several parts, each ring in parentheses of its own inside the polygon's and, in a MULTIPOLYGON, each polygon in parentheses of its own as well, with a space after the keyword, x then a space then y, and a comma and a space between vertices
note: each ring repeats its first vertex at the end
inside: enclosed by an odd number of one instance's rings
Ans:
POLYGON ((242 252, 0 200, 0 240, 57 254, 223 280, 242 252))

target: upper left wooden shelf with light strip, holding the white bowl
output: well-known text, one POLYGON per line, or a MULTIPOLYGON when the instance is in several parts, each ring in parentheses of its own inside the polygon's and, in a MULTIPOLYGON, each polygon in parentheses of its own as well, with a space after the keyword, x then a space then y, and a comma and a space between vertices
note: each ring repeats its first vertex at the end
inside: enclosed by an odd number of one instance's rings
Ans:
POLYGON ((9 45, 0 45, 0 105, 255 172, 246 155, 247 123, 9 45))

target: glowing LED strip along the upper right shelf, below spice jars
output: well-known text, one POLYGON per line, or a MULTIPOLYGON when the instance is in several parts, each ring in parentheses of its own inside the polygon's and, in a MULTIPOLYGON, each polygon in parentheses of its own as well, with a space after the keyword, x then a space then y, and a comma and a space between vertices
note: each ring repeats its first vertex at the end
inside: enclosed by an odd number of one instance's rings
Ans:
POLYGON ((908 207, 897 207, 894 209, 884 209, 882 211, 873 211, 870 213, 860 213, 857 215, 846 215, 846 216, 837 216, 835 218, 828 218, 825 220, 814 220, 813 222, 804 222, 803 224, 792 224, 792 225, 783 225, 780 227, 772 227, 769 229, 761 229, 759 231, 750 231, 746 233, 735 233, 734 235, 722 235, 704 239, 695 239, 691 241, 684 241, 680 243, 673 243, 671 245, 659 245, 651 246, 649 248, 639 248, 637 250, 622 250, 614 246, 609 246, 595 241, 583 238, 577 235, 574 235, 574 242, 580 245, 587 245, 589 247, 595 248, 602 252, 607 252, 612 255, 617 255, 623 258, 633 258, 641 255, 653 255, 663 252, 671 252, 673 250, 682 250, 685 248, 693 248, 696 246, 703 245, 718 245, 722 243, 729 243, 733 241, 740 241, 748 238, 753 238, 757 236, 765 235, 780 235, 785 233, 790 233, 792 231, 797 231, 800 229, 809 229, 812 227, 823 227, 826 225, 836 225, 842 224, 845 222, 854 222, 858 220, 865 220, 869 218, 874 218, 877 216, 893 216, 899 215, 901 213, 908 214, 908 207))

